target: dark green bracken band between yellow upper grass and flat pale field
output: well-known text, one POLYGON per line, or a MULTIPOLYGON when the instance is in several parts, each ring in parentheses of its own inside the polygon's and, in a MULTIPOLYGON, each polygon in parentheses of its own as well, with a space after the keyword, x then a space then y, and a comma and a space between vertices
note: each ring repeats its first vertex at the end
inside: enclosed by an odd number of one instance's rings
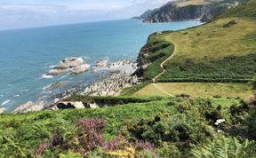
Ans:
POLYGON ((182 62, 170 61, 159 82, 247 83, 256 76, 256 53, 242 57, 228 56, 220 60, 182 62))

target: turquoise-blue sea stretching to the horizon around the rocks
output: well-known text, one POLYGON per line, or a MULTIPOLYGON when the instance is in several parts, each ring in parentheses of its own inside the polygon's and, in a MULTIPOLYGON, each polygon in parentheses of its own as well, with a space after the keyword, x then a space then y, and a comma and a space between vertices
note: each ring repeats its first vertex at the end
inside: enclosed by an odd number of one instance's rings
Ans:
POLYGON ((90 65, 105 57, 113 61, 136 59, 149 34, 196 25, 200 22, 148 24, 140 20, 113 20, 0 31, 0 108, 8 112, 28 100, 47 98, 56 92, 44 91, 51 83, 66 81, 67 88, 92 83, 99 76, 88 71, 42 78, 66 57, 84 57, 90 65))

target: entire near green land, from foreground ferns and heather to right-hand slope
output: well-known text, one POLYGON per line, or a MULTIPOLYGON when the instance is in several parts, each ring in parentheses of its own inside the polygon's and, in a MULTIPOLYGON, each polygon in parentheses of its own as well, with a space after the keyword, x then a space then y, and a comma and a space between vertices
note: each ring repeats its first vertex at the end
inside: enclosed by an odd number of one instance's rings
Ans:
POLYGON ((142 83, 123 96, 75 95, 65 101, 84 109, 0 115, 0 157, 256 157, 255 8, 251 0, 149 36, 142 83))

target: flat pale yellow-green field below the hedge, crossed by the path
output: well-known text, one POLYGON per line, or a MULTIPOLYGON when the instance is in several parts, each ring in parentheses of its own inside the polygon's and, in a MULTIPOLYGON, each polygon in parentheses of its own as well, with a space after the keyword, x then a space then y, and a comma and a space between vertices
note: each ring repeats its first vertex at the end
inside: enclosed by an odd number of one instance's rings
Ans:
MULTIPOLYGON (((248 99, 253 95, 252 84, 247 83, 156 83, 161 89, 172 94, 187 94, 193 97, 224 97, 248 99)), ((153 84, 137 91, 133 96, 167 96, 153 84)))

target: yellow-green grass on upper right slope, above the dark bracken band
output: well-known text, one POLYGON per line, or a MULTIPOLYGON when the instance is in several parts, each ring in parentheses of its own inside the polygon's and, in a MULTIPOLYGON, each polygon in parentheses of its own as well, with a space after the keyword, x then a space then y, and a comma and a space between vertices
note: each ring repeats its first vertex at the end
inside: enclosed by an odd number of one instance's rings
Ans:
POLYGON ((255 25, 256 20, 220 19, 201 27, 188 28, 161 37, 177 44, 177 55, 172 60, 183 60, 184 57, 196 60, 223 59, 230 55, 244 56, 255 51, 256 41, 244 44, 244 37, 255 33, 255 25), (231 20, 235 20, 236 25, 223 28, 231 20))

